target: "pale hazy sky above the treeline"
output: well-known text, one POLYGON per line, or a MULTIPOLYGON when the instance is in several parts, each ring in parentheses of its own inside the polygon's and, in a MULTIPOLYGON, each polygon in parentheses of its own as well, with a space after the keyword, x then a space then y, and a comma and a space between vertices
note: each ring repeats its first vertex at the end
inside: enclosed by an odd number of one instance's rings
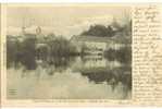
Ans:
POLYGON ((11 7, 7 8, 8 34, 18 35, 22 26, 26 32, 35 33, 40 26, 42 34, 54 33, 71 38, 90 25, 109 25, 113 17, 124 24, 129 17, 128 7, 79 4, 79 5, 46 5, 46 7, 11 7))

